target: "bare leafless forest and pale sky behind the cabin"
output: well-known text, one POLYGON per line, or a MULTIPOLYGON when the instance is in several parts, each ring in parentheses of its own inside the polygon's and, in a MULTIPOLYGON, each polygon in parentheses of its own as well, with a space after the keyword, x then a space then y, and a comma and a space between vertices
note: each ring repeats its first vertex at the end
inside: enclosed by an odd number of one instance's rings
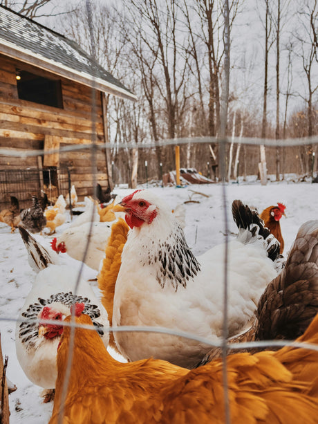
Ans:
MULTIPOLYGON (((136 102, 106 98, 113 182, 132 186, 132 178, 159 180, 175 169, 174 140, 181 167, 218 178, 225 3, 1 0, 75 40, 137 95, 136 102)), ((277 181, 315 175, 317 0, 229 0, 228 10, 227 179, 257 175, 264 161, 277 181), (291 146, 293 139, 302 142, 291 146)))

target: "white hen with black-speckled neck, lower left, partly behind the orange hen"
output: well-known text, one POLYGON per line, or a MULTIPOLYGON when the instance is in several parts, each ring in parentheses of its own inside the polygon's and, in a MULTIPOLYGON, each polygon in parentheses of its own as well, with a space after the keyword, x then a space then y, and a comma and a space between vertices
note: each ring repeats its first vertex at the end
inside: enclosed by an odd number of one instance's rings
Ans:
POLYGON ((78 271, 71 266, 55 264, 55 258, 50 257, 48 251, 24 228, 20 232, 29 260, 33 262, 32 268, 37 269, 37 276, 17 320, 17 358, 24 373, 35 385, 54 389, 61 322, 70 314, 71 305, 84 303, 84 312, 91 316, 105 346, 109 335, 103 327, 107 328, 109 321, 91 286, 84 279, 78 280, 78 271), (45 320, 54 320, 54 323, 46 323, 45 320))

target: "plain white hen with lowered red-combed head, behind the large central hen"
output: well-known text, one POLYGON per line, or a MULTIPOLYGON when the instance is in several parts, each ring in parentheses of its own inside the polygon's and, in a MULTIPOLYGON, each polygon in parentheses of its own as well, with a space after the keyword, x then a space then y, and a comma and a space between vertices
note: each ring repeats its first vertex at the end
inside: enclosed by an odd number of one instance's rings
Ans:
POLYGON ((51 246, 55 252, 67 252, 77 261, 83 261, 87 266, 99 270, 110 235, 110 223, 86 222, 66 228, 62 234, 53 239, 51 246))

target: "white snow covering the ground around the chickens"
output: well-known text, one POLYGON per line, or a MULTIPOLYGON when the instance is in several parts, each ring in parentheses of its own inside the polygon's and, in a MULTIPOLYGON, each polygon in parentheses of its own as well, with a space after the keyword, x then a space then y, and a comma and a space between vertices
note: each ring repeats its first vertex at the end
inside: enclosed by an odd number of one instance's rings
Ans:
MULTIPOLYGON (((144 187, 145 188, 145 187, 144 187)), ((149 187, 167 201, 171 210, 184 201, 199 203, 185 203, 185 235, 189 246, 195 255, 223 243, 225 237, 225 210, 230 232, 236 232, 236 225, 232 219, 231 205, 234 199, 241 199, 248 205, 253 205, 259 212, 270 205, 281 202, 286 205, 286 218, 281 219, 281 231, 285 240, 287 255, 300 225, 310 219, 317 219, 318 185, 310 183, 270 182, 261 186, 257 182, 220 184, 188 185, 176 187, 149 187), (196 194, 192 192, 206 194, 196 194), (223 192, 226 200, 223 199, 223 192)), ((131 190, 117 188, 116 194, 124 196, 131 190)), ((49 248, 49 241, 64 231, 71 224, 70 219, 57 228, 54 236, 36 235, 43 246, 49 248)), ((232 237, 232 236, 230 236, 232 237)), ((15 319, 19 308, 24 304, 35 279, 35 273, 28 265, 26 248, 21 240, 19 231, 10 234, 10 227, 0 223, 0 321, 1 345, 3 356, 9 357, 8 378, 17 385, 17 390, 10 394, 10 423, 43 424, 48 422, 53 404, 42 403, 41 387, 33 385, 24 375, 15 353, 15 319)), ((59 255, 62 257, 62 255, 59 255)), ((62 261, 70 266, 79 266, 79 262, 64 255, 62 261)), ((84 266, 84 277, 94 278, 96 271, 84 266)), ((97 282, 91 282, 95 293, 98 294, 97 282)))

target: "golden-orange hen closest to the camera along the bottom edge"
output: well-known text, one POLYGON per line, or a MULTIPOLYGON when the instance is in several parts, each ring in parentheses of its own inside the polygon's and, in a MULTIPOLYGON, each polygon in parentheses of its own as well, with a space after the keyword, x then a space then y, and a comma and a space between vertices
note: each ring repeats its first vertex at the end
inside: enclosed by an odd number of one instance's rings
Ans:
MULTIPOLYGON (((91 319, 80 315, 75 322, 87 326, 91 319)), ((75 329, 74 360, 64 397, 70 333, 64 326, 48 424, 225 423, 221 360, 191 371, 153 358, 121 363, 109 355, 95 331, 80 327, 75 329)), ((318 317, 297 341, 318 343, 318 317)), ((317 373, 315 350, 284 347, 228 356, 230 422, 317 423, 317 373)))

